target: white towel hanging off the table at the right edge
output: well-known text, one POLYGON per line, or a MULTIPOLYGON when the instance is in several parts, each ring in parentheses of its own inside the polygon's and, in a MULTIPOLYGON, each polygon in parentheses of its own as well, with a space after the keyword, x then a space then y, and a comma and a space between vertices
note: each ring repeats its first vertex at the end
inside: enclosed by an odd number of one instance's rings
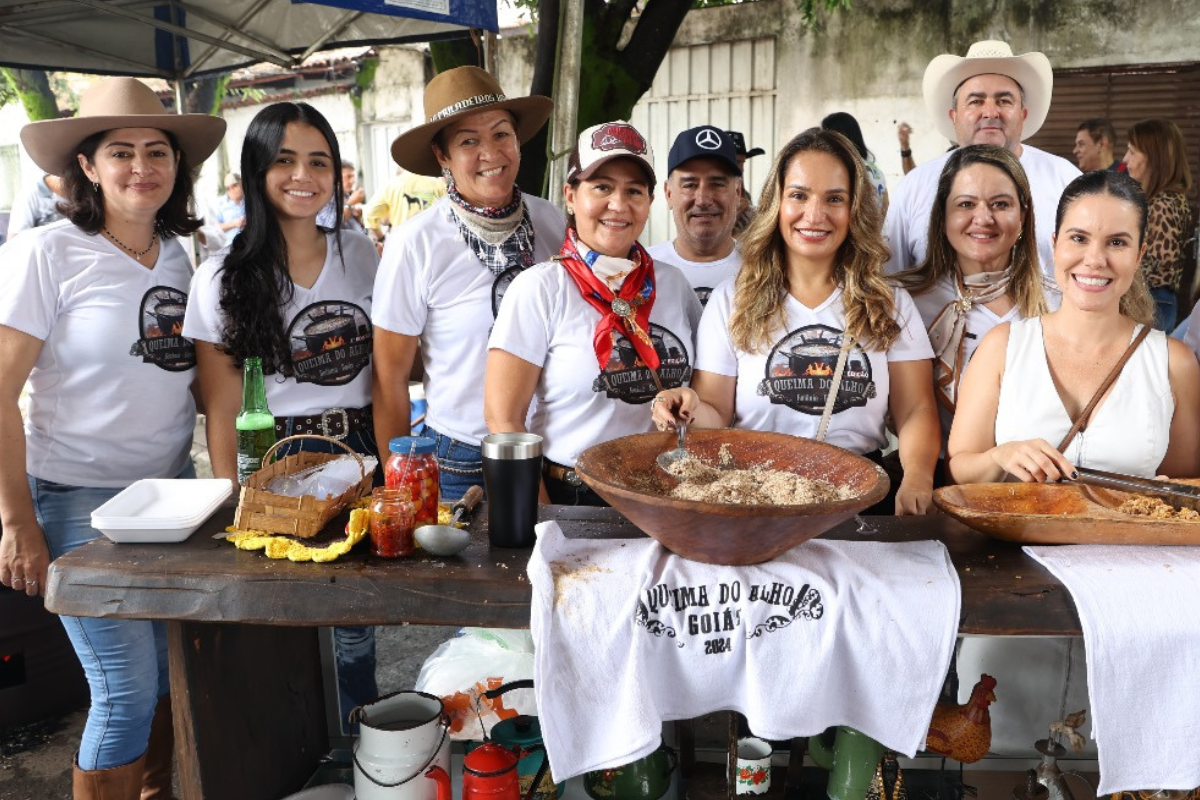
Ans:
POLYGON ((1200 786, 1200 549, 1025 552, 1067 587, 1079 610, 1099 794, 1200 786))

